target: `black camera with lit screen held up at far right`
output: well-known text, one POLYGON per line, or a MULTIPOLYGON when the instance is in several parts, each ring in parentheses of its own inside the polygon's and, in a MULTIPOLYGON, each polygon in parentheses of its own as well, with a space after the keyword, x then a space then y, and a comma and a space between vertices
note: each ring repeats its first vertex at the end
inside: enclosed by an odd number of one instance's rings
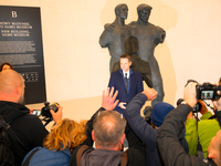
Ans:
POLYGON ((221 95, 218 94, 221 91, 221 85, 212 85, 211 83, 203 83, 197 85, 197 98, 198 100, 214 100, 218 101, 221 95))

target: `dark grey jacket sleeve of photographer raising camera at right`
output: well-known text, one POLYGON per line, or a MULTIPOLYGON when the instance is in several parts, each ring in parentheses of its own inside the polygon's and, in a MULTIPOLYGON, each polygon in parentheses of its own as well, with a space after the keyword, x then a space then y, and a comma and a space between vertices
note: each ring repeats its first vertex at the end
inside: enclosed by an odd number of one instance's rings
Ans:
POLYGON ((215 165, 211 159, 209 159, 209 163, 206 163, 194 155, 187 154, 179 143, 178 135, 190 111, 190 106, 180 104, 165 117, 159 128, 157 144, 165 166, 215 165))

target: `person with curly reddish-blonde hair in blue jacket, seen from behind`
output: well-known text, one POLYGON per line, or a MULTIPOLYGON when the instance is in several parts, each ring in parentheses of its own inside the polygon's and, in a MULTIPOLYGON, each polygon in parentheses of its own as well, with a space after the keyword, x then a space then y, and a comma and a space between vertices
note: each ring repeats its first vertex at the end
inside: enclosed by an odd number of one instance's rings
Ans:
POLYGON ((23 159, 36 151, 29 160, 32 166, 69 166, 72 151, 86 139, 85 122, 64 118, 52 127, 52 132, 45 137, 43 147, 35 147, 23 159))

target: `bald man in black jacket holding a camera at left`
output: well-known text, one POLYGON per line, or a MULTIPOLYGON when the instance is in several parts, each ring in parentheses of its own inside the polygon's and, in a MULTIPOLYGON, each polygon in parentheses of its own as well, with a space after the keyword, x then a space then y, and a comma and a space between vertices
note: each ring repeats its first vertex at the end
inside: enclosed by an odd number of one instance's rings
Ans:
MULTIPOLYGON (((30 110, 23 105, 24 98, 23 77, 13 70, 0 73, 0 115, 10 124, 23 146, 11 139, 11 148, 17 165, 21 165, 23 157, 34 147, 42 146, 44 137, 49 132, 41 120, 30 114, 30 110)), ((59 111, 50 111, 54 122, 62 118, 62 106, 59 111)))

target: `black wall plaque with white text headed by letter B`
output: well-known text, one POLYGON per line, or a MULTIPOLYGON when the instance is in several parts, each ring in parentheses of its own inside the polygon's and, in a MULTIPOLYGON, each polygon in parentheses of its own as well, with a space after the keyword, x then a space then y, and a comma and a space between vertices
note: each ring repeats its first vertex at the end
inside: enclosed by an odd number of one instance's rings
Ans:
POLYGON ((25 104, 46 101, 40 8, 0 6, 0 64, 25 81, 25 104))

